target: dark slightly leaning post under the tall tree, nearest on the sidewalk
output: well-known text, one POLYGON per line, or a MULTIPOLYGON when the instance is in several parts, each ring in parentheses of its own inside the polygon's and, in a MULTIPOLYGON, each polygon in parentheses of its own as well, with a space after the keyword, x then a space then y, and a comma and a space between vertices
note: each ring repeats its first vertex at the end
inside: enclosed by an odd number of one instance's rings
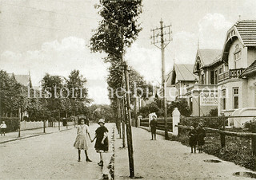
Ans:
POLYGON ((129 156, 129 167, 130 167, 130 178, 134 178, 134 150, 133 140, 131 131, 131 115, 130 115, 130 87, 129 87, 129 72, 126 61, 123 62, 125 80, 126 80, 126 136, 127 136, 127 147, 129 156))

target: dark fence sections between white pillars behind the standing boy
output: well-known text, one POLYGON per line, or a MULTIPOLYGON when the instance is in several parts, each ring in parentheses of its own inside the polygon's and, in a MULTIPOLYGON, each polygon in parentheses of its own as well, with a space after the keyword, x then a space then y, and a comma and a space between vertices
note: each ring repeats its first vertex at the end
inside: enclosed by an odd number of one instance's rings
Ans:
MULTIPOLYGON (((157 122, 158 122, 157 129, 158 130, 165 130, 165 119, 164 118, 158 118, 157 122)), ((149 119, 148 118, 140 119, 139 126, 149 127, 149 119)), ((173 119, 172 119, 172 117, 167 118, 167 126, 168 126, 168 131, 172 132, 173 131, 173 119)))

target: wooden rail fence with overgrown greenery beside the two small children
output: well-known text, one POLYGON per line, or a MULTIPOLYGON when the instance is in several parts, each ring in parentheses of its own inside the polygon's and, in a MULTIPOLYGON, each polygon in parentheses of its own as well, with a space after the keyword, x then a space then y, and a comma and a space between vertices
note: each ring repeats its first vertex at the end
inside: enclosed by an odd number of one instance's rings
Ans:
POLYGON ((206 144, 204 147, 206 153, 256 170, 256 133, 247 132, 248 130, 242 128, 231 127, 225 129, 226 118, 181 119, 181 123, 176 125, 178 136, 175 139, 188 144, 190 125, 199 121, 204 122, 204 129, 206 130, 206 144), (187 124, 184 125, 184 123, 187 124))

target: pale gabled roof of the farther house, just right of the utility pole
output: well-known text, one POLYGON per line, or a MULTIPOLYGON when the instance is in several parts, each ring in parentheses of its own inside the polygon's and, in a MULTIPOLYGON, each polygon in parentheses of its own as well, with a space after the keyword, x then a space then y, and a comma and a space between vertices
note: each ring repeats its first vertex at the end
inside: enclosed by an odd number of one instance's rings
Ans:
POLYGON ((174 64, 174 69, 168 74, 167 85, 172 85, 173 81, 195 81, 197 76, 193 74, 193 68, 193 64, 174 64))

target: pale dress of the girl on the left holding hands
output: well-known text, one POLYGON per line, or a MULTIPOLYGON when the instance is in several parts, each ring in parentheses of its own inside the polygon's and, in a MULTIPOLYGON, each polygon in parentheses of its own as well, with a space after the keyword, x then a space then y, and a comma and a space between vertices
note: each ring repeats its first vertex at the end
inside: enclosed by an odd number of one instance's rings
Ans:
POLYGON ((74 142, 74 147, 80 150, 88 150, 88 133, 89 127, 84 125, 78 125, 77 138, 74 142))

